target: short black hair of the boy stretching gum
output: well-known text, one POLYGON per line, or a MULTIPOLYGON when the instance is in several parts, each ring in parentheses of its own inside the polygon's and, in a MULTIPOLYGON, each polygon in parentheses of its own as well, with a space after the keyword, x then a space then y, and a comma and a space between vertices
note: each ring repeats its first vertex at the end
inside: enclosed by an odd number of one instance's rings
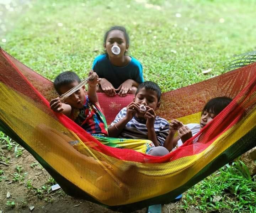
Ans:
POLYGON ((57 91, 59 95, 62 95, 60 92, 60 87, 73 83, 73 82, 81 82, 81 79, 78 77, 78 75, 71 71, 66 71, 63 73, 60 73, 54 80, 54 88, 57 91))

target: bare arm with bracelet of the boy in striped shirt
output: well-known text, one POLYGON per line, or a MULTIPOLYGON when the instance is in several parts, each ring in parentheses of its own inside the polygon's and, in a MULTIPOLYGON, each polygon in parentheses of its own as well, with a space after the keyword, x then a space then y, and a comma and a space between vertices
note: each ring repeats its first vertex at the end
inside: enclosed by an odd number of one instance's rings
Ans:
MULTIPOLYGON (((108 127, 108 136, 112 138, 117 137, 123 131, 126 124, 134 117, 136 112, 139 112, 139 105, 134 102, 129 103, 127 106, 126 116, 124 116, 114 125, 108 127)), ((118 119, 119 114, 120 112, 118 113, 116 119, 118 119)))

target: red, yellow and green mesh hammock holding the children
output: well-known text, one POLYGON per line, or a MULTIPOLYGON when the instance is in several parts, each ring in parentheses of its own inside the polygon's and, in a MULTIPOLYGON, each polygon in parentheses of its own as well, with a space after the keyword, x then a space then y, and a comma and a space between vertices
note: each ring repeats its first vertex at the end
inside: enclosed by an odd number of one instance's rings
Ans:
MULTIPOLYGON (((62 189, 119 211, 167 203, 256 145, 256 64, 162 94, 158 114, 199 121, 212 97, 234 101, 210 125, 163 157, 105 146, 49 100, 53 84, 0 49, 0 129, 25 147, 62 189), (124 207, 124 208, 121 208, 124 207)), ((99 94, 110 123, 133 96, 99 94)))

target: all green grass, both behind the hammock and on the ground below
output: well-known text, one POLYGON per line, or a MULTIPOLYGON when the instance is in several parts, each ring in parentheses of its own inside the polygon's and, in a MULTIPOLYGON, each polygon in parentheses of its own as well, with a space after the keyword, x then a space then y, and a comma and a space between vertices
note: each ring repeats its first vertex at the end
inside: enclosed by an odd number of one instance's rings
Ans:
MULTIPOLYGON (((84 78, 103 52, 103 35, 113 25, 127 28, 129 55, 142 63, 144 78, 157 82, 163 91, 219 75, 233 55, 256 49, 252 0, 46 0, 22 6, 20 12, 2 13, 7 31, 0 32, 0 45, 51 80, 66 70, 84 78), (209 74, 202 74, 209 68, 209 74)), ((17 144, 0 134, 0 144, 13 151, 17 144)), ((16 155, 22 150, 17 149, 16 155)), ((8 159, 1 155, 1 161, 8 159)), ((17 173, 17 181, 23 181, 22 175, 17 173)), ((49 179, 47 187, 35 188, 30 181, 27 187, 43 198, 52 184, 49 179)), ((256 212, 255 188, 241 163, 226 165, 188 190, 181 208, 256 212)))

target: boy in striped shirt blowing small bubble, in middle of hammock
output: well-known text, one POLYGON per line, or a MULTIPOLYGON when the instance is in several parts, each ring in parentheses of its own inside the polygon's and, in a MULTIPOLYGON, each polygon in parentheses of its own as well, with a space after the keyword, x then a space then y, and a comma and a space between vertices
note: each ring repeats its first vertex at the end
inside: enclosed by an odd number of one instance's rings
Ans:
POLYGON ((156 116, 160 106, 161 89, 150 81, 141 83, 134 101, 124 107, 108 127, 111 137, 148 139, 155 146, 169 144, 169 122, 156 116), (145 111, 142 111, 144 108, 145 111))

